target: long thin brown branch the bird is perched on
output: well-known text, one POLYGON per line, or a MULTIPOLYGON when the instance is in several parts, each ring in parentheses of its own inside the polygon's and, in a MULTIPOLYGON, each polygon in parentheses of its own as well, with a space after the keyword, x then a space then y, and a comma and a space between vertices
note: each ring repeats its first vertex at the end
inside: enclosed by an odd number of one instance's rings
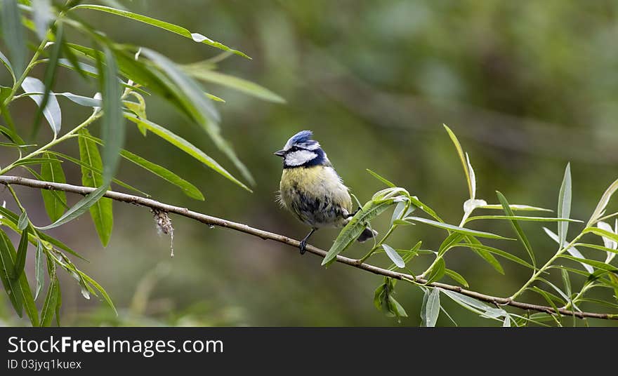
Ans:
MULTIPOLYGON (((91 187, 81 187, 79 185, 72 185, 72 184, 44 182, 41 180, 27 179, 25 177, 18 177, 18 176, 0 176, 0 184, 5 184, 5 185, 15 184, 15 185, 22 185, 25 187, 32 187, 32 188, 37 188, 37 189, 58 190, 58 191, 71 192, 71 193, 82 194, 82 195, 86 195, 90 192, 93 192, 93 190, 95 190, 95 188, 91 188, 91 187)), ((197 213, 195 211, 189 210, 188 208, 180 208, 178 206, 172 206, 172 205, 161 203, 159 201, 155 201, 152 199, 145 199, 143 197, 133 196, 131 194, 124 194, 120 192, 113 192, 113 191, 107 191, 107 193, 105 194, 105 197, 113 199, 115 201, 133 203, 134 205, 145 206, 151 209, 162 210, 167 213, 175 213, 178 215, 182 215, 183 217, 188 217, 188 218, 197 220, 205 224, 233 229, 235 231, 244 232, 245 234, 258 236, 259 238, 262 238, 265 240, 278 241, 280 243, 293 246, 294 248, 298 248, 298 246, 300 246, 300 241, 297 241, 296 239, 291 239, 284 235, 275 234, 275 233, 264 231, 261 229, 256 229, 246 224, 223 220, 218 217, 212 217, 211 215, 197 213)), ((320 257, 324 257, 327 254, 325 250, 322 250, 320 248, 310 246, 310 245, 307 246, 306 250, 320 257)), ((360 263, 359 260, 355 260, 350 257, 344 257, 341 255, 338 255, 336 261, 341 262, 342 264, 349 265, 350 267, 355 267, 358 269, 362 269, 364 271, 369 271, 371 273, 379 274, 381 276, 387 276, 390 278, 400 279, 404 281, 415 281, 416 283, 426 283, 426 280, 424 280, 423 278, 412 276, 411 274, 399 273, 397 271, 383 269, 381 267, 376 267, 372 264, 360 263)), ((548 314, 558 313, 558 314, 565 315, 565 316, 576 316, 579 318, 590 317, 590 318, 602 318, 605 320, 618 320, 618 314, 597 314, 593 312, 579 312, 579 311, 574 312, 574 311, 570 311, 568 309, 563 309, 563 308, 559 308, 558 312, 556 312, 552 307, 547 307, 547 306, 542 306, 542 305, 537 305, 537 304, 529 304, 525 302, 516 302, 515 300, 511 300, 507 297, 494 297, 491 295, 485 295, 485 294, 477 293, 472 290, 466 290, 459 286, 447 285, 445 283, 434 282, 434 283, 429 283, 428 286, 435 287, 435 288, 442 288, 443 290, 455 291, 456 293, 467 295, 469 297, 482 300, 483 302, 489 302, 489 303, 500 305, 500 306, 511 306, 511 307, 516 307, 516 308, 526 309, 526 310, 531 310, 531 311, 546 312, 548 314)))

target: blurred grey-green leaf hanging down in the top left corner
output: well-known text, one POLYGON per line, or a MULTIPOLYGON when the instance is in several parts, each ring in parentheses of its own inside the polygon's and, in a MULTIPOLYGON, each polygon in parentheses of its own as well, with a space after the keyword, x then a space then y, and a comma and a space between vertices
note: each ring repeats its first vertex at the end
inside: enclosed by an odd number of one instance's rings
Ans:
POLYGON ((2 34, 13 62, 14 76, 21 76, 26 66, 26 39, 21 15, 15 0, 2 1, 2 34))

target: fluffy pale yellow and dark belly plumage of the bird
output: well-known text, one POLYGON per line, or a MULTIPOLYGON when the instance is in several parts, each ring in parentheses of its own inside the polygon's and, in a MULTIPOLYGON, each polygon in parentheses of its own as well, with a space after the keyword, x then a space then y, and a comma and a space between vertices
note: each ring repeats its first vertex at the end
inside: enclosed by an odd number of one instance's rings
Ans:
POLYGON ((284 206, 313 227, 341 227, 352 209, 348 188, 328 166, 284 169, 280 194, 284 206))

